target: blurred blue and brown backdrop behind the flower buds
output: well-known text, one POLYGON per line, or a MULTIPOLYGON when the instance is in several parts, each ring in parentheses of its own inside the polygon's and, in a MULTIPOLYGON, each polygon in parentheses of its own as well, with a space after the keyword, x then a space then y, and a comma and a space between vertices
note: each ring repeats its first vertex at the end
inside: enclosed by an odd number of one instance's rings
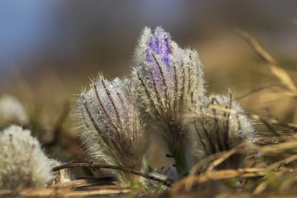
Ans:
MULTIPOLYGON (((230 88, 238 97, 280 83, 234 27, 250 33, 297 83, 296 17, 297 0, 0 0, 0 97, 17 97, 32 120, 50 128, 65 103, 75 113, 75 95, 89 77, 130 75, 145 26, 162 26, 181 47, 198 51, 208 95, 230 88)), ((285 92, 272 87, 240 103, 297 123, 296 99, 285 92)))

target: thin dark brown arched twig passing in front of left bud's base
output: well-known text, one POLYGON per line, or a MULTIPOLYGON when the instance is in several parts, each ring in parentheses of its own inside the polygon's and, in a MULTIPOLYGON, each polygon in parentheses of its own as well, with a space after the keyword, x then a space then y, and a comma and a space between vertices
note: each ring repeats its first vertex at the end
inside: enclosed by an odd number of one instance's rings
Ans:
POLYGON ((120 167, 120 166, 112 166, 112 165, 104 165, 104 164, 93 164, 93 163, 70 163, 70 164, 63 164, 63 165, 60 165, 60 166, 56 166, 56 167, 54 167, 52 169, 52 171, 57 171, 57 170, 64 169, 64 168, 73 168, 73 167, 109 168, 109 169, 121 170, 121 171, 124 171, 124 172, 139 175, 139 176, 142 176, 142 177, 145 177, 145 178, 157 181, 157 182, 161 182, 161 183, 165 184, 166 186, 171 187, 171 183, 169 181, 167 181, 167 180, 162 180, 162 179, 153 177, 151 175, 144 174, 144 173, 141 173, 139 171, 131 170, 131 169, 128 169, 128 168, 123 168, 123 167, 120 167))

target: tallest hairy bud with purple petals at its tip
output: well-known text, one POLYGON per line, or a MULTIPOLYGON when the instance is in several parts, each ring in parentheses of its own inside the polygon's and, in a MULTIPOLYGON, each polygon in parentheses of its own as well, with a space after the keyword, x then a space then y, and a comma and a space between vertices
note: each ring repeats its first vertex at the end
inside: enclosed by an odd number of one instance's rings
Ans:
POLYGON ((204 94, 202 64, 196 51, 181 49, 169 33, 145 28, 133 61, 132 79, 147 112, 153 137, 173 157, 179 177, 189 170, 189 131, 183 112, 190 93, 204 94))

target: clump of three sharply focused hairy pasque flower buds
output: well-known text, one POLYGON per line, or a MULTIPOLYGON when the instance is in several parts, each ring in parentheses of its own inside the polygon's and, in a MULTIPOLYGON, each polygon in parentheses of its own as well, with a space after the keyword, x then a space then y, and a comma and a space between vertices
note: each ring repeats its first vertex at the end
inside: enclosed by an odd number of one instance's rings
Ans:
MULTIPOLYGON (((150 136, 163 147, 164 157, 175 160, 176 171, 170 171, 170 177, 176 180, 188 173, 193 153, 200 160, 251 142, 251 121, 232 94, 205 97, 197 52, 178 47, 161 27, 153 32, 144 29, 135 50, 131 81, 116 78, 110 82, 99 75, 90 86, 78 99, 77 115, 81 138, 94 161, 169 179, 159 169, 148 171, 145 150, 150 136)), ((242 158, 234 155, 218 168, 239 167, 242 158)), ((110 172, 121 185, 135 180, 130 173, 110 172)), ((158 186, 144 178, 140 181, 150 190, 158 186)))

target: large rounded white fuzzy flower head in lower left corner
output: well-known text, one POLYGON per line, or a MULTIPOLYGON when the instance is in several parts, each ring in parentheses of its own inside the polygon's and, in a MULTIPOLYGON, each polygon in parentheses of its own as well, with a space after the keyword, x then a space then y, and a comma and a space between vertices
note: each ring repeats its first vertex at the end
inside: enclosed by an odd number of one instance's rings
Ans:
POLYGON ((0 131, 0 159, 0 189, 44 187, 53 178, 40 143, 19 126, 0 131))

